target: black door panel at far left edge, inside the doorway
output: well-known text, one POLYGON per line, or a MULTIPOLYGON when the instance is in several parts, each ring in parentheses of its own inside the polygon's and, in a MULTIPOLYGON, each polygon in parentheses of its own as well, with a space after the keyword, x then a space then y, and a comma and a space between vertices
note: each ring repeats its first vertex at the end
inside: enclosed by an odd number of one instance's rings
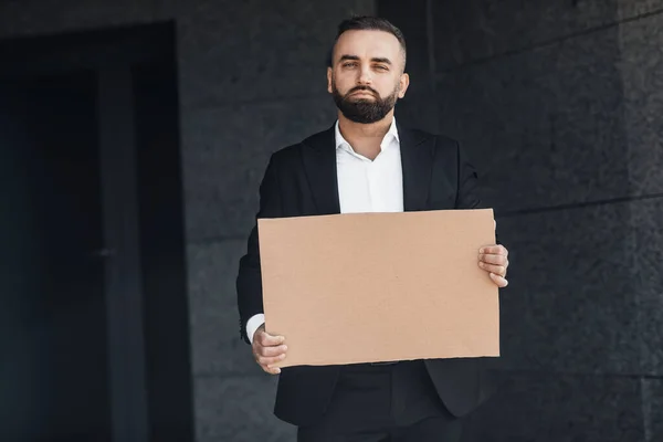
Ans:
POLYGON ((0 84, 2 439, 109 441, 96 73, 0 84))

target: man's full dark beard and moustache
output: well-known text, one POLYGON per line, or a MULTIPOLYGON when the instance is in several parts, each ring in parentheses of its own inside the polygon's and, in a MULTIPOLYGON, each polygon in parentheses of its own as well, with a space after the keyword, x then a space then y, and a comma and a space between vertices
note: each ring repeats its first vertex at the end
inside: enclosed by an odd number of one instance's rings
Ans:
POLYGON ((336 82, 332 82, 332 96, 334 97, 336 107, 338 107, 347 119, 359 124, 371 124, 385 118, 393 109, 398 98, 398 85, 391 95, 382 98, 380 94, 368 86, 352 87, 347 94, 343 95, 336 88, 336 82), (366 91, 373 94, 375 99, 357 99, 350 96, 358 91, 366 91))

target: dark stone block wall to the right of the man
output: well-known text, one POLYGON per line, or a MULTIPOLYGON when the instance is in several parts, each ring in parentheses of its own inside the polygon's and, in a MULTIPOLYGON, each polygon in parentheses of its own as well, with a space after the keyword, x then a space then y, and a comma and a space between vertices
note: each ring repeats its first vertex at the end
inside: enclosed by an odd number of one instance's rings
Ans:
POLYGON ((663 440, 663 2, 408 11, 378 1, 433 91, 401 119, 464 143, 511 250, 503 383, 465 440, 663 440))

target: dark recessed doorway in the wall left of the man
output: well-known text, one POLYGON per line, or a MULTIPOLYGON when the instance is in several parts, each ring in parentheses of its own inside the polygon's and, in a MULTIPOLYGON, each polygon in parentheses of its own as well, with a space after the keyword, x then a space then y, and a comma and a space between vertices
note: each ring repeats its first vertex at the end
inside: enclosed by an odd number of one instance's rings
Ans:
POLYGON ((192 440, 173 48, 0 42, 1 440, 192 440))

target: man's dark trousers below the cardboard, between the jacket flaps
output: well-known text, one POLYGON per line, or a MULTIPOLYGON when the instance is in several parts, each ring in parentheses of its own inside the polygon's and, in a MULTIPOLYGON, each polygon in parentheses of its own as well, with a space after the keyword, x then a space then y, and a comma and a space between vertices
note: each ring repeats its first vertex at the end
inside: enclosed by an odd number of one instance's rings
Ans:
POLYGON ((438 397, 422 361, 344 367, 320 422, 298 442, 457 442, 461 421, 438 397))

